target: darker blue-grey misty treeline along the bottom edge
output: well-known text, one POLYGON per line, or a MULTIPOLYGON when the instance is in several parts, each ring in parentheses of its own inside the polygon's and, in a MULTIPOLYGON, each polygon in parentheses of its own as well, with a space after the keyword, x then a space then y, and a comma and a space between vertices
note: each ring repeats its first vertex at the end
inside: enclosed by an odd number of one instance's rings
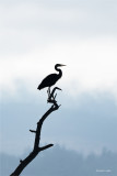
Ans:
MULTIPOLYGON (((27 151, 30 153, 30 151, 27 151)), ((22 160, 28 154, 23 154, 22 160)), ((1 175, 10 175, 19 164, 20 158, 13 155, 0 154, 1 175)), ((104 148, 101 155, 90 154, 84 158, 82 153, 68 151, 59 145, 48 151, 44 151, 23 170, 24 176, 48 175, 48 176, 74 176, 93 175, 97 176, 97 170, 104 170, 103 176, 117 174, 117 153, 112 153, 104 148), (109 170, 109 172, 107 172, 109 170)), ((100 173, 101 174, 101 173, 100 173)))

